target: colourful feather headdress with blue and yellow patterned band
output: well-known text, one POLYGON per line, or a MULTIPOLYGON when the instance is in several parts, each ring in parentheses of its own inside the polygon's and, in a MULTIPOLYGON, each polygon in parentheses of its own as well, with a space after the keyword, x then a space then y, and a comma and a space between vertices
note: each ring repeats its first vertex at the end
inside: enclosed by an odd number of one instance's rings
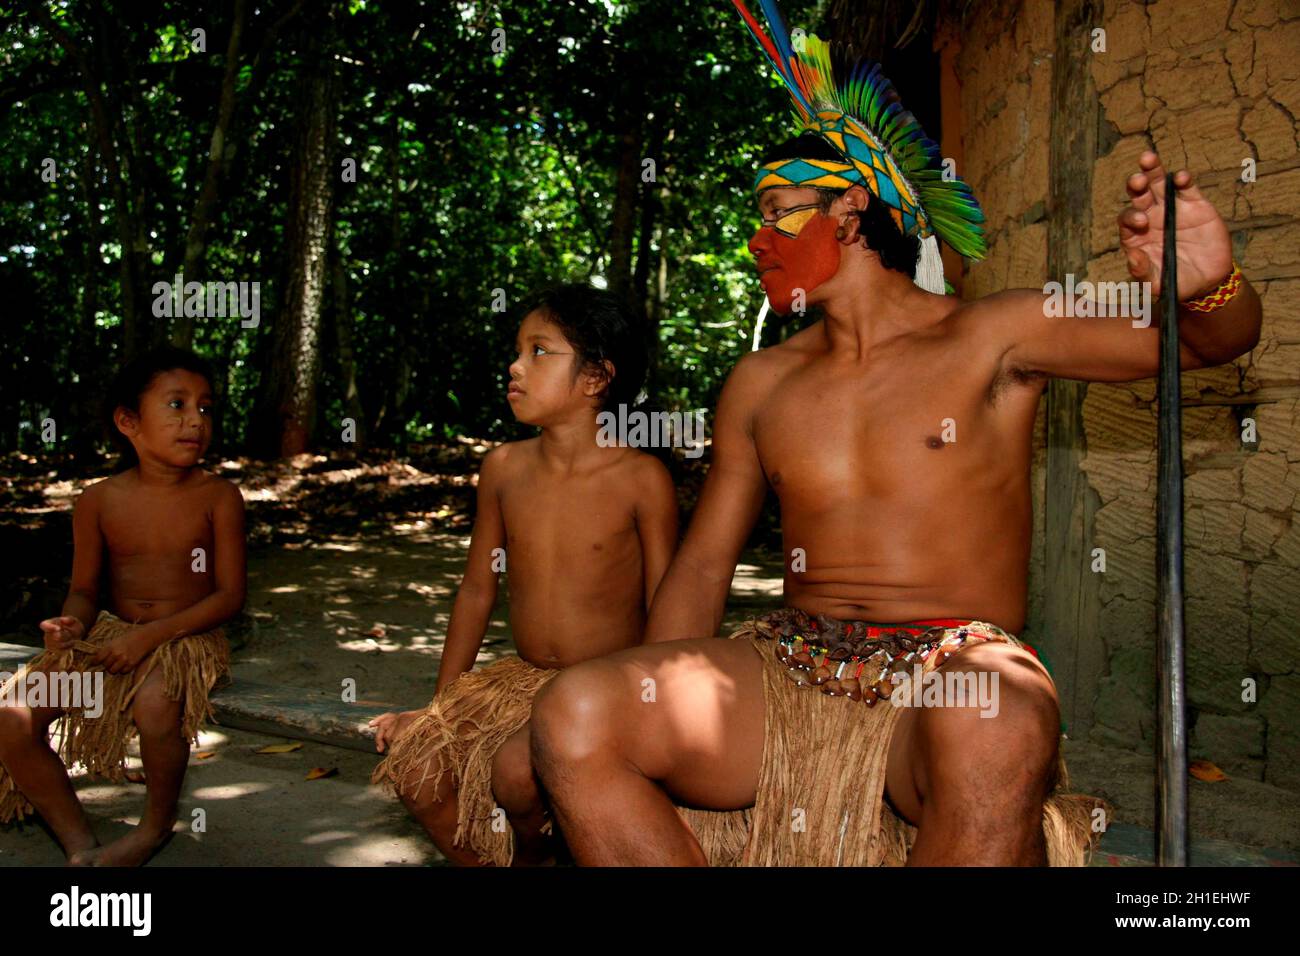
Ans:
POLYGON ((842 190, 861 185, 880 199, 904 235, 920 238, 916 285, 944 293, 942 239, 968 259, 983 259, 984 213, 970 186, 945 176, 942 157, 916 118, 902 108, 880 64, 859 60, 836 77, 831 44, 812 35, 792 43, 776 0, 758 0, 767 30, 742 0, 732 0, 794 100, 800 125, 844 157, 786 159, 763 165, 755 193, 775 186, 842 190), (937 237, 937 239, 936 239, 937 237))

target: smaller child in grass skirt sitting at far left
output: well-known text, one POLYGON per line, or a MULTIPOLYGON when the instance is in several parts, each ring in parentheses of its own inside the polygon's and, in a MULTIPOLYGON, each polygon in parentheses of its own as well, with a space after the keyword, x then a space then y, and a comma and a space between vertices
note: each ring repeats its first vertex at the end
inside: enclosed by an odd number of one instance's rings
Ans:
POLYGON ((243 607, 243 499, 199 468, 212 438, 212 376, 199 356, 159 349, 138 358, 108 407, 124 470, 78 498, 62 615, 40 623, 46 650, 0 692, 0 822, 35 809, 70 864, 135 866, 172 832, 190 741, 228 670, 217 628, 243 607), (104 572, 108 601, 96 617, 104 572), (84 672, 96 680, 82 682, 84 672), (75 704, 29 695, 60 685, 55 675, 103 693, 75 704), (60 718, 62 760, 49 747, 60 718), (64 763, 121 780, 136 734, 144 814, 100 847, 64 763))

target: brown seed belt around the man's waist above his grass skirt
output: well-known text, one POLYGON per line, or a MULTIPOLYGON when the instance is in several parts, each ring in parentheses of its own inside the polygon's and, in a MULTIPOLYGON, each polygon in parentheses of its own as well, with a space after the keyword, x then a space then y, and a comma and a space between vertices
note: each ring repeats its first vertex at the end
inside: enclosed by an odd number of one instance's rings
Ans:
POLYGON ((876 624, 836 620, 824 614, 814 617, 797 607, 764 614, 754 622, 754 631, 774 643, 774 652, 794 684, 867 705, 893 695, 894 674, 911 676, 915 666, 926 667, 935 654, 939 656, 935 666, 940 666, 967 644, 1017 643, 982 620, 935 618, 876 624))

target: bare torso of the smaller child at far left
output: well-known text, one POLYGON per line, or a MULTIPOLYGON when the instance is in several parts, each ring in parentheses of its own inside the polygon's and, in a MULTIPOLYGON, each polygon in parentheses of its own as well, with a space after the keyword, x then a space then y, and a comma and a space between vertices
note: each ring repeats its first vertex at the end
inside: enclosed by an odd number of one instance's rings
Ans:
POLYGON ((98 485, 107 606, 147 623, 213 592, 212 511, 226 483, 195 471, 173 486, 144 486, 134 472, 98 485))

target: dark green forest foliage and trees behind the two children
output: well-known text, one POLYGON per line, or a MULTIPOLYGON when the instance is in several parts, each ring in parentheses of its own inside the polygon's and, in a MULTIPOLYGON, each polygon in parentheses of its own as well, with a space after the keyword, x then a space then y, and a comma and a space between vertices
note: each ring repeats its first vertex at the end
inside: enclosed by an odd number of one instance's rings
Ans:
POLYGON ((226 454, 330 450, 346 419, 372 447, 517 437, 510 306, 560 281, 645 315, 664 407, 750 347, 749 187, 792 117, 729 3, 0 17, 0 451, 92 453, 113 371, 169 339, 214 363, 226 454), (256 316, 168 316, 177 274, 256 284, 256 316))

